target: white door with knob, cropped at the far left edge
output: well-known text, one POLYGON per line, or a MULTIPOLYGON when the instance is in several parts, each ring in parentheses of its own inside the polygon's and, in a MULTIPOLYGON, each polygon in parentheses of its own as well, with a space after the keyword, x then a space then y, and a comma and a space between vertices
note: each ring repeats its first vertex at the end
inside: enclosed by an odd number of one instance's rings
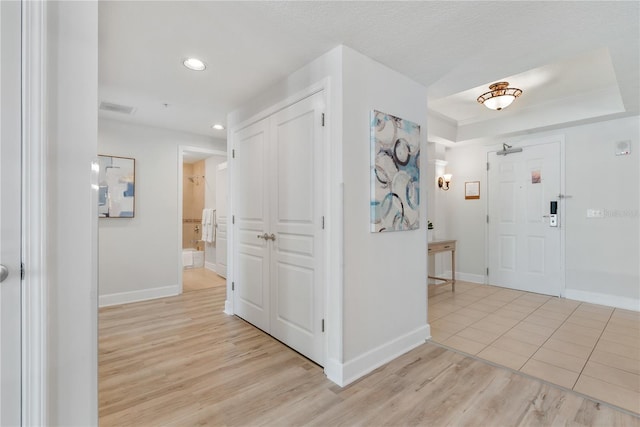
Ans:
POLYGON ((0 425, 21 424, 21 4, 0 2, 0 425))

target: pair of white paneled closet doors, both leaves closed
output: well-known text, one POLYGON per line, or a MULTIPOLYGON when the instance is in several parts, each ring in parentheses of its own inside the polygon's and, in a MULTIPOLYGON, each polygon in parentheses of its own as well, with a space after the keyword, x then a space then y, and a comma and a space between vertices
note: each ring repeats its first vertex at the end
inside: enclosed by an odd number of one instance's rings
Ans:
POLYGON ((324 363, 323 93, 233 138, 234 312, 324 363))

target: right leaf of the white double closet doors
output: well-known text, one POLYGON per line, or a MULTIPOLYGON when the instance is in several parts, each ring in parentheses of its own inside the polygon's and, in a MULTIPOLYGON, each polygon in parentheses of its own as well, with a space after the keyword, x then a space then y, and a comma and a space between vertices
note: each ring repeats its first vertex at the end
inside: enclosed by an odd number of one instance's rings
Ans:
POLYGON ((322 365, 322 93, 271 118, 271 335, 322 365))

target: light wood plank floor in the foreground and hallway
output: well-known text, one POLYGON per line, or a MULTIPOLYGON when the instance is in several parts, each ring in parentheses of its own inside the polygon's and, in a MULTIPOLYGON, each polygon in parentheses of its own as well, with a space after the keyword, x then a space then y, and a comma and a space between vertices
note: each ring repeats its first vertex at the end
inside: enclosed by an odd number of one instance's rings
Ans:
POLYGON ((222 313, 224 287, 100 310, 101 426, 640 426, 578 394, 426 343, 340 388, 222 313))

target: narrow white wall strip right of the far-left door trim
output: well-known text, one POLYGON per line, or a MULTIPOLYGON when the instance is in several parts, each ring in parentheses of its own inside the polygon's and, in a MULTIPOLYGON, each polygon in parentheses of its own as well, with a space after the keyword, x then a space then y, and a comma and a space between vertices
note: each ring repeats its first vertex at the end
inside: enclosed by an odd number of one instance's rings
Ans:
POLYGON ((98 4, 47 2, 48 425, 98 424, 98 4), (79 60, 80 59, 80 60, 79 60))

